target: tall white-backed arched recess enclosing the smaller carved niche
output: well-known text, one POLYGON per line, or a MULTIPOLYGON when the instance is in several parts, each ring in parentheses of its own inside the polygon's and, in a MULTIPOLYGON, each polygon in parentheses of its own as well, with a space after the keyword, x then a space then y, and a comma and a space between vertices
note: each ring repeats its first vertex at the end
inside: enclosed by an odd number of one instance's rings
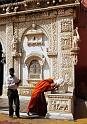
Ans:
POLYGON ((50 76, 48 45, 45 31, 32 24, 23 35, 21 77, 23 85, 33 86, 37 81, 50 76))

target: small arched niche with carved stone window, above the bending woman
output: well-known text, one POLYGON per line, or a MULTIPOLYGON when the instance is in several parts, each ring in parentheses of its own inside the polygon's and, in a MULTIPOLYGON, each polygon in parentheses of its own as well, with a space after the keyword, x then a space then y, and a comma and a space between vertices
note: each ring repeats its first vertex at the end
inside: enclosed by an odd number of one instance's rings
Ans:
POLYGON ((30 54, 25 59, 25 65, 27 66, 27 82, 35 84, 36 81, 42 79, 42 67, 44 61, 41 55, 37 53, 30 54))

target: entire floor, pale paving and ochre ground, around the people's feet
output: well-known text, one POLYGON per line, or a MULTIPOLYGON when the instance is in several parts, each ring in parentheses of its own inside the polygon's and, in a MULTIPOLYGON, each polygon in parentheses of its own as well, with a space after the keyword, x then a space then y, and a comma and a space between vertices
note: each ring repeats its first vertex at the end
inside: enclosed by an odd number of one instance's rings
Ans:
POLYGON ((17 119, 8 117, 8 99, 0 96, 0 124, 87 124, 87 118, 77 120, 56 120, 44 118, 29 118, 26 114, 29 97, 20 97, 20 115, 17 119))

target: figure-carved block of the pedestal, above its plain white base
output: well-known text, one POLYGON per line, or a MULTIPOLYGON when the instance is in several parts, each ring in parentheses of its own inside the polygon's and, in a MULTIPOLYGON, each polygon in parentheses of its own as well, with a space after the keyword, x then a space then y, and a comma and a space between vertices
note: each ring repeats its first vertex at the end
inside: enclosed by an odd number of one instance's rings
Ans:
POLYGON ((49 112, 71 112, 72 97, 69 94, 48 94, 49 112))

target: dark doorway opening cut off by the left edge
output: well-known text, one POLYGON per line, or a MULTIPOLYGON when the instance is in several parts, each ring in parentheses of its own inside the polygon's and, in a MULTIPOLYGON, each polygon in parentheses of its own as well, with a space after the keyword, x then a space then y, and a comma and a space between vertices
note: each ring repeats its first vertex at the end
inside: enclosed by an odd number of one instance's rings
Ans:
POLYGON ((0 96, 3 89, 3 62, 2 62, 2 45, 0 43, 0 96))

